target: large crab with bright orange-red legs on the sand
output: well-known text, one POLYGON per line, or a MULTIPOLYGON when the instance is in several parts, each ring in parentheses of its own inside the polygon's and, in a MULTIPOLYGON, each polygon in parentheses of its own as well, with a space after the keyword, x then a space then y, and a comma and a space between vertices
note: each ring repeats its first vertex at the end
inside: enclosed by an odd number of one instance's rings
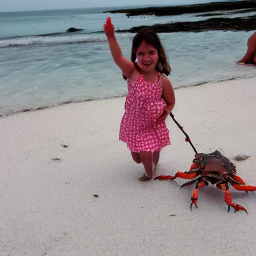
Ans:
POLYGON ((225 192, 224 201, 228 205, 227 211, 229 211, 231 206, 234 208, 234 212, 238 210, 244 210, 247 213, 247 210, 243 206, 232 202, 232 197, 228 189, 228 183, 230 183, 236 190, 242 190, 246 193, 248 191, 256 190, 256 186, 246 185, 239 176, 235 175, 236 166, 218 150, 207 154, 196 153, 194 156, 195 157, 192 161, 189 171, 178 171, 174 176, 160 175, 155 177, 154 179, 172 180, 176 177, 192 179, 191 181, 182 184, 181 187, 191 185, 196 182, 191 197, 191 210, 193 204, 196 208, 198 208, 196 204, 198 189, 211 183, 225 192))

